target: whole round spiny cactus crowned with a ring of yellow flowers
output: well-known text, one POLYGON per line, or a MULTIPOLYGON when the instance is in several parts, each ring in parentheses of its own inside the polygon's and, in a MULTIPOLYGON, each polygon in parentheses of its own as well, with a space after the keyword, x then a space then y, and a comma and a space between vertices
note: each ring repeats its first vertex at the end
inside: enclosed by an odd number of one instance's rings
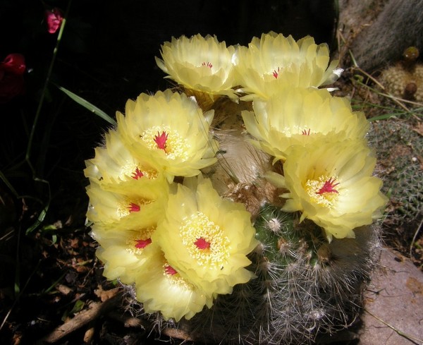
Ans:
POLYGON ((307 344, 360 312, 387 199, 336 64, 275 32, 162 45, 176 87, 128 100, 85 169, 104 276, 158 332, 307 344))

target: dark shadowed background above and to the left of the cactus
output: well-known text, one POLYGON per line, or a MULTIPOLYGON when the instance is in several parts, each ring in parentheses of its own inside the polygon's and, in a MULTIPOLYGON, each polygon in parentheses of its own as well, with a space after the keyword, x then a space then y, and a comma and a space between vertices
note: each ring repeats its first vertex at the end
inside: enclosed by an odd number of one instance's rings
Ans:
MULTIPOLYGON (((253 36, 274 30, 295 39, 312 35, 334 49, 333 0, 69 4, 0 0, 0 61, 19 53, 27 67, 23 93, 0 104, 0 322, 6 320, 1 344, 34 344, 61 325, 75 301, 95 301, 94 289, 106 284, 85 226, 83 169, 110 125, 58 85, 114 117, 127 99, 169 86, 154 56, 171 37, 210 34, 228 45, 247 45, 253 36), (54 7, 68 9, 68 15, 46 84, 58 32, 47 32, 44 11, 54 7), (75 266, 75 260, 90 263, 75 266), (72 292, 62 296, 51 290, 58 283, 72 292)), ((102 328, 106 335, 116 332, 116 339, 128 332, 113 321, 102 328)), ((123 344, 101 343, 102 337, 98 344, 123 344)), ((80 344, 75 339, 60 344, 80 344)))

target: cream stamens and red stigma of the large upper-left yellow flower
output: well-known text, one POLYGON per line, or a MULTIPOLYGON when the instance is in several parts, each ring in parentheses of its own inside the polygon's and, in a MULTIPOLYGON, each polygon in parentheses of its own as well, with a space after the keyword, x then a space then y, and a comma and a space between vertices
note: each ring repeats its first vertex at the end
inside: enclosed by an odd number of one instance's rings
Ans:
POLYGON ((176 131, 172 131, 169 126, 149 128, 140 135, 140 138, 149 150, 163 150, 168 159, 180 158, 183 161, 188 159, 190 149, 188 141, 181 138, 176 131))

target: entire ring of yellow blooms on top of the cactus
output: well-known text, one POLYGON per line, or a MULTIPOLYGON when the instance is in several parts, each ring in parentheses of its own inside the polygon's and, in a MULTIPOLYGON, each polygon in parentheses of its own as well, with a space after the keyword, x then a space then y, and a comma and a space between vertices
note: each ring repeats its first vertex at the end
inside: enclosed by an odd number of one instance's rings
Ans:
POLYGON ((214 110, 200 107, 199 95, 252 101, 245 129, 252 145, 283 164, 283 174, 265 177, 289 191, 284 211, 312 219, 329 241, 379 217, 386 198, 373 176, 369 123, 347 99, 319 88, 341 73, 326 44, 269 32, 248 47, 195 35, 161 48, 157 65, 184 92, 128 100, 85 169, 104 276, 134 285, 146 313, 189 320, 254 278, 246 268, 258 244, 251 214, 202 174, 216 164, 219 143, 214 110))

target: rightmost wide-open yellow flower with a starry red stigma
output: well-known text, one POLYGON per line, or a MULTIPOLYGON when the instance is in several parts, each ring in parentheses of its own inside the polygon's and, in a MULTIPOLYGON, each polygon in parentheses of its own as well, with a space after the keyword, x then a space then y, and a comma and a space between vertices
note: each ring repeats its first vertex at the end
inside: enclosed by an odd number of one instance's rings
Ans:
POLYGON ((283 164, 284 176, 267 174, 269 181, 289 193, 282 210, 302 212, 331 241, 355 237, 354 229, 372 224, 381 215, 387 198, 382 181, 373 176, 376 157, 364 140, 321 140, 295 146, 283 164))

